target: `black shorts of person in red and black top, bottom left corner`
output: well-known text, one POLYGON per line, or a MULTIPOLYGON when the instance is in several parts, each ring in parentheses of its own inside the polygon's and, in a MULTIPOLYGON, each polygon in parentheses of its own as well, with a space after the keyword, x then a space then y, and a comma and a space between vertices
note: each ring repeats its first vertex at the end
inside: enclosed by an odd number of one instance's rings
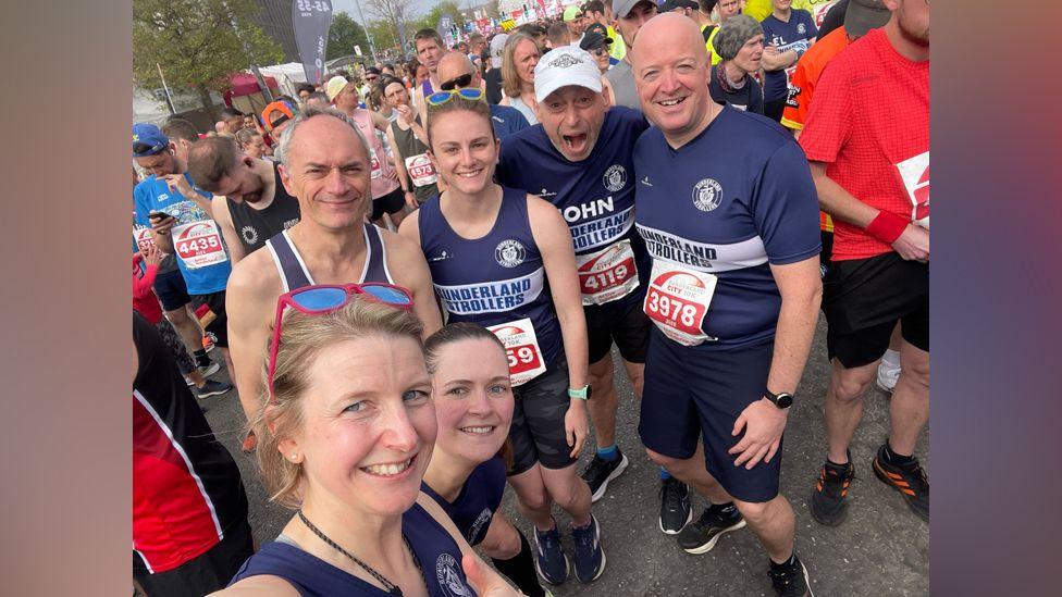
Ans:
POLYGON ((254 554, 255 543, 245 519, 225 531, 225 538, 198 558, 156 574, 134 567, 133 579, 148 597, 207 595, 229 586, 239 567, 254 554))

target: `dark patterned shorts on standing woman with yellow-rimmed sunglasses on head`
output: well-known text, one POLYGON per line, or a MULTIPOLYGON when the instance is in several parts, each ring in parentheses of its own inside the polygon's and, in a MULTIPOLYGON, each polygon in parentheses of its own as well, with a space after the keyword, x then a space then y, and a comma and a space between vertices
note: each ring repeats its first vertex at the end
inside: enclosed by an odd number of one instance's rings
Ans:
POLYGON ((542 375, 513 388, 516 407, 509 426, 513 465, 508 475, 527 472, 538 462, 546 469, 564 469, 576 462, 565 434, 568 413, 568 362, 564 352, 542 375))

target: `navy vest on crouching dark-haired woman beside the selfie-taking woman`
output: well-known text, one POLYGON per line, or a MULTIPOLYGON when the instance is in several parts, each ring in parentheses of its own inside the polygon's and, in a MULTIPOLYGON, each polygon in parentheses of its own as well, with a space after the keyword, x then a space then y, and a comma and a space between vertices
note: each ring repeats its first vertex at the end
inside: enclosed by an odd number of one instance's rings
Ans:
POLYGON ((502 506, 502 494, 505 493, 505 461, 494 457, 480 463, 468 475, 460 493, 453 502, 436 494, 427 483, 420 484, 420 490, 431 496, 457 525, 457 530, 465 535, 469 545, 479 545, 486 537, 486 530, 491 527, 494 512, 502 506))

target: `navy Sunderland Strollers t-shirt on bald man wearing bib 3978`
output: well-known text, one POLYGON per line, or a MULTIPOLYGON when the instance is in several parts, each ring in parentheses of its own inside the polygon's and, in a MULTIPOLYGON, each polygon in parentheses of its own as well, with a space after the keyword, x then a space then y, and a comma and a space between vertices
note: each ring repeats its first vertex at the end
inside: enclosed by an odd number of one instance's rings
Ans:
POLYGON ((792 135, 725 105, 678 150, 651 128, 634 146, 635 220, 654 265, 716 276, 701 328, 706 350, 774 338, 781 296, 768 263, 820 250, 818 196, 792 135))

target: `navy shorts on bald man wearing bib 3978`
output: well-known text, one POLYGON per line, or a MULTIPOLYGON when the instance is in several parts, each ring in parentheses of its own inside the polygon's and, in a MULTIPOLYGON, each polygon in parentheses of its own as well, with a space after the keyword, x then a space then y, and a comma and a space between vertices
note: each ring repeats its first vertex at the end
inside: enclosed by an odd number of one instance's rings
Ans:
POLYGON ((741 436, 730 434, 734 421, 745 407, 764 396, 774 350, 773 340, 729 350, 703 350, 681 346, 654 327, 638 422, 642 444, 654 452, 684 460, 696 453, 700 437, 705 469, 728 494, 742 501, 774 499, 782 447, 779 445, 770 462, 760 462, 752 470, 734 467, 738 455, 728 453, 741 440, 741 436))

